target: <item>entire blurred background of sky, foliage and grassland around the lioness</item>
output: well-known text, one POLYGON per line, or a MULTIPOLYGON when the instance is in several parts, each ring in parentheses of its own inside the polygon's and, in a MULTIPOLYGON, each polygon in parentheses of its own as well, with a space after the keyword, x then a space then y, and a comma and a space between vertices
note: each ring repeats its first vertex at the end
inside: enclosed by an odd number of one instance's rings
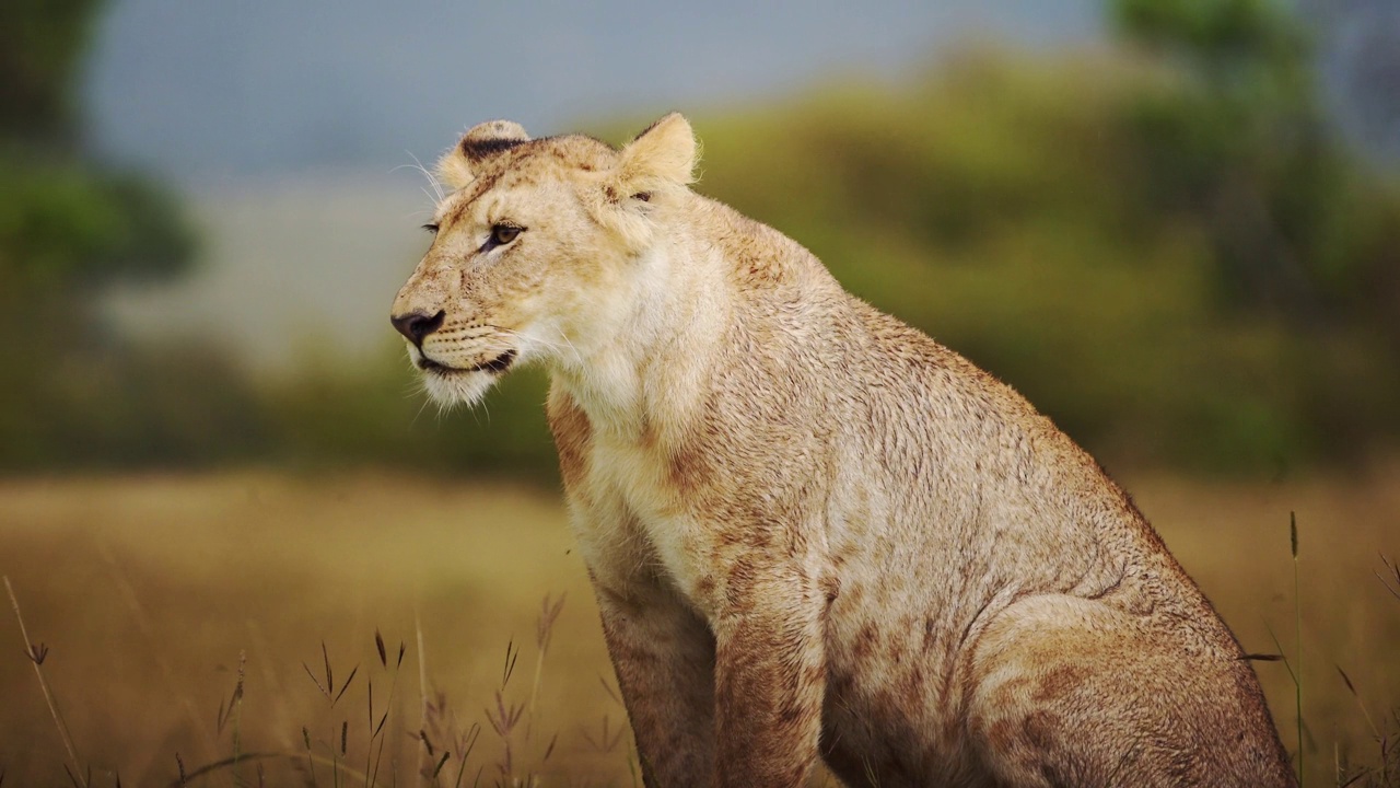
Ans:
MULTIPOLYGON (((0 624, 0 784, 160 782, 182 749, 252 752, 225 719, 241 652, 281 698, 259 746, 314 753, 314 777, 340 712, 287 705, 283 683, 315 695, 302 662, 332 683, 328 639, 388 670, 377 627, 413 665, 391 750, 470 760, 461 736, 428 746, 451 687, 472 698, 462 731, 496 740, 472 756, 487 775, 532 768, 533 736, 546 773, 627 781, 626 740, 594 746, 622 711, 568 555, 547 381, 515 373, 484 408, 438 412, 388 307, 428 245, 419 165, 465 128, 619 143, 671 109, 703 140, 699 191, 1025 393, 1127 482, 1249 651, 1289 652, 1303 623, 1316 722, 1291 716, 1295 662, 1260 673, 1309 768, 1385 759, 1348 753, 1400 704, 1379 658, 1400 606, 1372 582, 1378 551, 1400 554, 1393 0, 11 0, 0 572, 53 646, 81 746, 60 746, 0 624), (1326 545, 1301 617, 1295 510, 1303 558, 1326 545), (538 603, 564 590, 553 648, 574 656, 542 693, 538 603), (553 698, 570 732, 543 761, 543 733, 477 711, 510 711, 489 698, 517 635, 540 658, 531 714, 553 698), (1368 679, 1369 708, 1334 667, 1368 679)), ((252 771, 206 777, 230 774, 252 771)))

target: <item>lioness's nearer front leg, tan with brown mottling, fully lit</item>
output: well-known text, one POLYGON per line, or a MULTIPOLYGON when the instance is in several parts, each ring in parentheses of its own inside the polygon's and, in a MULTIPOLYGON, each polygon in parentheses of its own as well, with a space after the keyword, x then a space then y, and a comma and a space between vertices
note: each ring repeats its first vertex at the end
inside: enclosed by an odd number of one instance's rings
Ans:
POLYGON ((715 624, 717 785, 802 785, 822 733, 825 599, 799 572, 745 586, 715 624))

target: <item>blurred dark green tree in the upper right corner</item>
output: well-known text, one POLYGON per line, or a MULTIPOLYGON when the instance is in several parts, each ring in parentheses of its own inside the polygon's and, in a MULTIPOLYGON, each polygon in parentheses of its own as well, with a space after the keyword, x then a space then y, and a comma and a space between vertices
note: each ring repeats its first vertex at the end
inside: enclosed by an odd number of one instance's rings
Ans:
MULTIPOLYGON (((1221 296, 1315 325, 1400 301, 1397 234, 1320 109, 1308 28, 1281 0, 1112 0, 1120 32, 1165 66, 1130 121, 1144 201, 1207 230, 1221 296)), ((1400 332, 1390 339, 1400 351, 1400 332)))

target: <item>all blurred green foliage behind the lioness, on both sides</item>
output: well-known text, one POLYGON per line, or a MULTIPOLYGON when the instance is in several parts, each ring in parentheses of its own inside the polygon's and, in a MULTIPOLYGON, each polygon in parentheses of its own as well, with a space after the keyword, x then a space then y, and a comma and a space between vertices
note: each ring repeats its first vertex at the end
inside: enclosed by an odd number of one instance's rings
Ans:
MULTIPOLYGON (((808 245, 1110 466, 1277 474, 1393 447, 1400 189, 1322 116, 1305 29, 1270 0, 1113 0, 1110 15, 1113 52, 965 52, 899 86, 697 116, 700 191, 808 245)), ((85 27, 45 29, 74 42, 85 27)), ((4 90, 49 84, 35 107, 66 107, 49 73, 4 90)), ((538 372, 444 415, 399 349, 252 388, 209 346, 109 337, 101 289, 185 271, 188 224, 161 189, 27 128, 0 147, 0 328, 27 338, 0 344, 18 370, 0 467, 553 478, 538 372)))

